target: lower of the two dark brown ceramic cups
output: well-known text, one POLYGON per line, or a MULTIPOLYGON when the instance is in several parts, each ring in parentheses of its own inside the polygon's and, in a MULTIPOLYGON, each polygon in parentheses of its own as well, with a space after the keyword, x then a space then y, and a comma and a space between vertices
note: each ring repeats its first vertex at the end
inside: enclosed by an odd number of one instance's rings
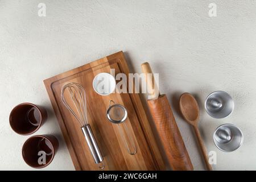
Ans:
POLYGON ((23 144, 22 156, 28 166, 44 168, 52 162, 57 148, 59 142, 53 135, 35 135, 23 144))

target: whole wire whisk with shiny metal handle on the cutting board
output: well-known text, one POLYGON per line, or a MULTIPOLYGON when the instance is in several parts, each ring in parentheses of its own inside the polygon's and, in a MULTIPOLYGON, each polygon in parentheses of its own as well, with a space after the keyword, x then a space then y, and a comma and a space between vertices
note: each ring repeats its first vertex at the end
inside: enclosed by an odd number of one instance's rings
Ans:
MULTIPOLYGON (((66 94, 67 96, 67 94, 66 94)), ((63 104, 67 107, 69 111, 75 116, 77 121, 81 125, 82 133, 85 136, 86 142, 90 148, 90 152, 92 153, 94 162, 99 164, 101 169, 104 169, 105 165, 103 162, 103 157, 101 155, 100 149, 98 148, 98 144, 94 135, 92 133, 92 129, 88 123, 87 113, 86 113, 86 94, 84 88, 80 84, 75 82, 68 82, 64 84, 61 88, 61 100, 63 104), (73 104, 72 107, 67 103, 67 100, 64 96, 64 92, 67 89, 69 93, 69 97, 71 98, 73 104), (72 109, 73 108, 73 109, 72 109)))

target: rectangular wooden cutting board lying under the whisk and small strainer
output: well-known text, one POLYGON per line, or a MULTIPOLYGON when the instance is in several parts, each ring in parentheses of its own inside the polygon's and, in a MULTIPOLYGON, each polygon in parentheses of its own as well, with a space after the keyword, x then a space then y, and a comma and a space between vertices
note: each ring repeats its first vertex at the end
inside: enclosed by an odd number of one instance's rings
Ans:
POLYGON ((115 75, 125 73, 128 78, 129 68, 122 51, 44 80, 76 170, 98 170, 98 167, 90 154, 79 123, 61 102, 61 86, 65 82, 77 82, 86 90, 88 120, 104 156, 105 170, 165 169, 139 95, 112 93, 100 96, 93 90, 94 76, 102 72, 110 73, 111 68, 115 69, 115 75), (128 111, 126 123, 137 147, 135 155, 127 152, 118 125, 106 118, 110 100, 125 106, 128 111))

